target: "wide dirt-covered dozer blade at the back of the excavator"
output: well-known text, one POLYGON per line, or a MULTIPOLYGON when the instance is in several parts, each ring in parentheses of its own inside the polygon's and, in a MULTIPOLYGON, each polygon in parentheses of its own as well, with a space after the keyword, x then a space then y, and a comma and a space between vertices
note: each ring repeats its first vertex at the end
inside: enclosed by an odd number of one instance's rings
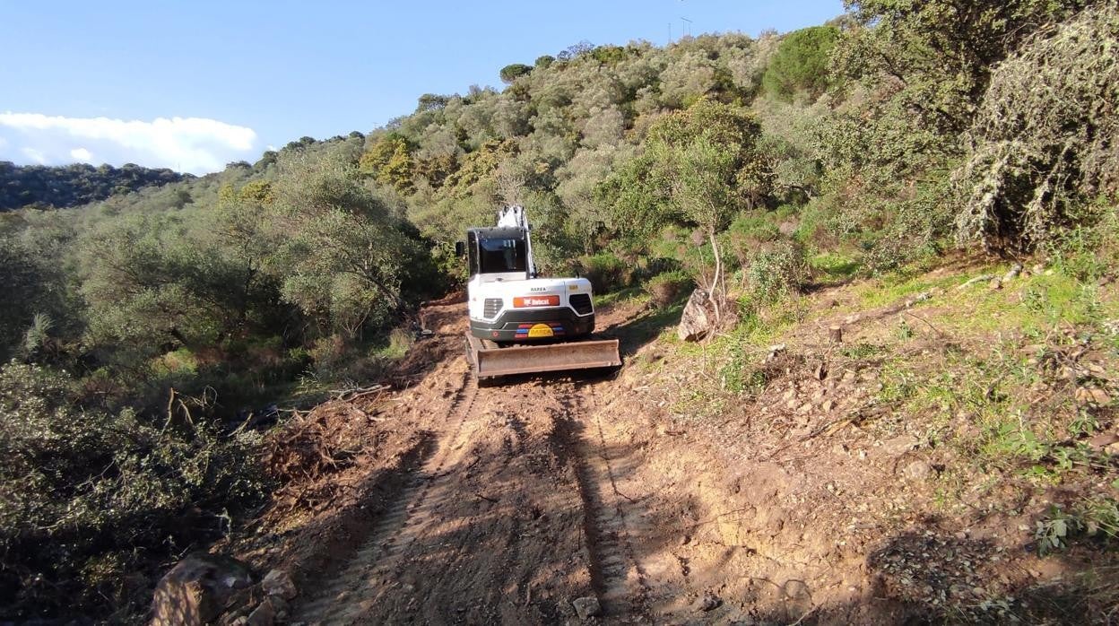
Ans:
POLYGON ((470 365, 479 379, 534 372, 615 367, 622 364, 618 354, 618 339, 487 348, 478 337, 468 331, 467 344, 470 365))

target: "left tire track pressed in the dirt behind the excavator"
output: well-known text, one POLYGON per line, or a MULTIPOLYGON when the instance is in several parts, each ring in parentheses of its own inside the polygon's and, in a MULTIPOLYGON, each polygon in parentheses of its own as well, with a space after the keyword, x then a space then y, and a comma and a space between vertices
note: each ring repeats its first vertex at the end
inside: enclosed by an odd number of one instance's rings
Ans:
POLYGON ((478 385, 471 379, 469 372, 463 374, 462 383, 445 411, 448 422, 451 422, 445 435, 421 459, 420 468, 374 525, 350 562, 312 600, 299 607, 294 622, 351 624, 370 608, 379 590, 369 580, 369 574, 376 569, 398 566, 395 561, 406 545, 404 541, 411 536, 407 529, 416 525, 417 517, 427 512, 427 494, 440 478, 478 393, 478 385))

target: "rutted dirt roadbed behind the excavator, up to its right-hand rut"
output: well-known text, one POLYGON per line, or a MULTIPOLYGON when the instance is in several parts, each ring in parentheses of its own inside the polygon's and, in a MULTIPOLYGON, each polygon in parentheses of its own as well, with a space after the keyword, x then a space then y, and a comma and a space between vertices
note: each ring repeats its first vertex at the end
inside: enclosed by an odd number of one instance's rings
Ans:
MULTIPOLYGON (((461 305, 425 310, 432 342, 461 342, 461 305)), ((438 351, 436 351, 438 352, 438 351)), ((591 415, 601 377, 518 379, 479 389, 463 358, 436 364, 406 401, 433 433, 359 548, 319 580, 294 620, 321 624, 555 624, 596 597, 640 622, 643 580, 613 468, 591 415)))

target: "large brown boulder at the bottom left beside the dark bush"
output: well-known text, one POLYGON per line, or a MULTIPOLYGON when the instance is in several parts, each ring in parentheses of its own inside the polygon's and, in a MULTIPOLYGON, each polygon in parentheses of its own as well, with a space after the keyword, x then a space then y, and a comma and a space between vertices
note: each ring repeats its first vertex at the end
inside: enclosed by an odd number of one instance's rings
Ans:
POLYGON ((238 590, 252 586, 248 567, 217 554, 190 554, 168 571, 152 597, 152 626, 214 622, 238 590))

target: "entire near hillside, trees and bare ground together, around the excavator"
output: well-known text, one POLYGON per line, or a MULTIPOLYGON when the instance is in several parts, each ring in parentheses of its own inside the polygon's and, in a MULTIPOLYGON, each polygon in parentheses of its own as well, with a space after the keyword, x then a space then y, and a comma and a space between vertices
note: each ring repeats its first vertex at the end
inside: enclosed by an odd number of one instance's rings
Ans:
POLYGON ((140 623, 209 551, 303 620, 1106 622, 1116 47, 1112 2, 864 0, 3 212, 0 620, 140 623), (472 385, 453 242, 511 203, 617 375, 472 385))

